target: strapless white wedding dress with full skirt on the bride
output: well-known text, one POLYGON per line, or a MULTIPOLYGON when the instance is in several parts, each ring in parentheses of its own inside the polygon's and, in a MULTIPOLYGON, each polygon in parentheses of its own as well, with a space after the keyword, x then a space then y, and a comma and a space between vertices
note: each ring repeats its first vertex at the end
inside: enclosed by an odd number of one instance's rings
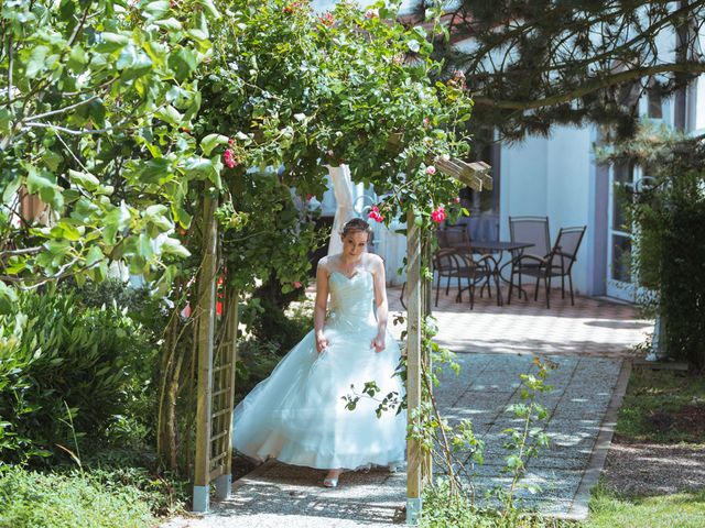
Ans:
POLYGON ((355 470, 404 460, 405 413, 375 410, 364 396, 355 410, 344 396, 360 393, 375 381, 384 397, 403 384, 394 370, 400 350, 387 332, 387 348, 375 352, 377 334, 373 278, 359 271, 351 278, 333 272, 328 278, 330 315, 324 326, 328 348, 316 351, 311 331, 252 389, 234 411, 232 446, 252 459, 274 458, 294 465, 355 470))

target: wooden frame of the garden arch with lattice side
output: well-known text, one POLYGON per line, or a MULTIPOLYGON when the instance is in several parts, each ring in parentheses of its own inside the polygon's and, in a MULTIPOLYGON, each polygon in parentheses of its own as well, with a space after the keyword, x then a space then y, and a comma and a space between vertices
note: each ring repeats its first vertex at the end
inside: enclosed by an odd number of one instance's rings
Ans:
MULTIPOLYGON (((433 161, 440 172, 458 179, 476 190, 491 188, 489 165, 484 162, 465 163, 459 160, 433 161)), ((334 185, 345 178, 334 178, 334 185)), ((218 226, 215 220, 217 201, 205 198, 204 244, 205 253, 198 274, 197 312, 197 409, 196 455, 194 466, 194 512, 209 508, 209 487, 215 484, 216 496, 230 495, 232 454, 232 409, 235 366, 237 362, 237 328, 239 293, 232 287, 218 292, 219 253, 218 226), (216 311, 220 306, 218 323, 216 311)), ((406 282, 408 282, 408 333, 406 333, 406 398, 408 420, 422 403, 422 362, 426 361, 422 350, 422 321, 431 312, 431 283, 422 278, 422 266, 431 265, 431 238, 415 222, 413 206, 406 211, 406 282), (426 264, 427 263, 427 264, 426 264)), ((431 457, 424 453, 417 440, 406 442, 406 522, 417 524, 422 510, 423 486, 432 476, 431 457)))

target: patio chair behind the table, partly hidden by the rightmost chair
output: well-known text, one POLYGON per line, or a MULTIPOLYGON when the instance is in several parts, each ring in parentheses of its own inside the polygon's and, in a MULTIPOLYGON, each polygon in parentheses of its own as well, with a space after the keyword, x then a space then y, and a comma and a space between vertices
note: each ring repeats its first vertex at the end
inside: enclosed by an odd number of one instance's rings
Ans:
POLYGON ((527 242, 533 245, 512 252, 507 304, 511 302, 514 275, 518 275, 519 298, 521 299, 522 293, 524 296, 527 295, 521 284, 522 272, 531 268, 535 271, 540 265, 540 260, 545 258, 551 252, 549 217, 509 217, 509 238, 512 242, 527 242), (524 255, 530 258, 522 258, 524 255))

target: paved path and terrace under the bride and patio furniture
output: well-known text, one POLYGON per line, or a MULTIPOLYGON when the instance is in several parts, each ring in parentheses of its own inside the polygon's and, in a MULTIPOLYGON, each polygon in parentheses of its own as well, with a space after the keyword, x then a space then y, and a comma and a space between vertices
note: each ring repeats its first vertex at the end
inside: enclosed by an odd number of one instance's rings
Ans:
MULTIPOLYGON (((392 310, 401 310, 399 290, 390 289, 392 310)), ((531 461, 524 482, 542 487, 536 495, 519 493, 525 505, 562 517, 587 515, 589 488, 597 482, 611 440, 616 410, 628 380, 630 349, 644 340, 649 321, 633 309, 609 301, 576 298, 574 307, 553 292, 552 308, 513 300, 497 307, 494 299, 464 304, 441 296, 435 316, 437 340, 458 354, 459 376, 449 374, 437 389, 451 421, 470 417, 486 441, 486 461, 474 471, 479 494, 507 484, 500 476, 505 451, 501 431, 511 427, 507 405, 518 400, 519 374, 530 372, 531 354, 557 363, 550 383, 554 391, 541 403, 551 417, 551 448, 531 461)), ((401 329, 392 328, 393 333, 401 329)), ((268 463, 234 485, 234 496, 205 517, 177 518, 169 528, 200 527, 388 527, 404 522, 405 474, 382 470, 346 473, 337 490, 321 486, 324 472, 268 463)))

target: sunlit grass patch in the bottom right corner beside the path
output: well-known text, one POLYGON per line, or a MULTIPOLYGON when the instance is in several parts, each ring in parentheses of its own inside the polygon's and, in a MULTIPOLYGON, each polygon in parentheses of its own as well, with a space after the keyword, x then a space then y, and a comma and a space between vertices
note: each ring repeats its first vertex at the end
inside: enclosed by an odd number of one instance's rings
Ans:
POLYGON ((604 484, 595 487, 585 528, 699 528, 705 491, 660 496, 625 496, 604 484))

